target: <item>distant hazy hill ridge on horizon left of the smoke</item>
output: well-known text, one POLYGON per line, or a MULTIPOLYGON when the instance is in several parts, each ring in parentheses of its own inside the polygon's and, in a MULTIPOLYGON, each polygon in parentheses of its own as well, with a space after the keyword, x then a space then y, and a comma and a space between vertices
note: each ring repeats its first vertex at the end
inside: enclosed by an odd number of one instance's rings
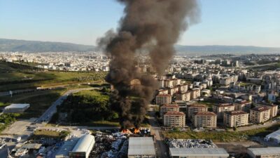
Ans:
POLYGON ((94 51, 94 46, 50 41, 25 41, 0 39, 0 51, 57 52, 57 51, 94 51))

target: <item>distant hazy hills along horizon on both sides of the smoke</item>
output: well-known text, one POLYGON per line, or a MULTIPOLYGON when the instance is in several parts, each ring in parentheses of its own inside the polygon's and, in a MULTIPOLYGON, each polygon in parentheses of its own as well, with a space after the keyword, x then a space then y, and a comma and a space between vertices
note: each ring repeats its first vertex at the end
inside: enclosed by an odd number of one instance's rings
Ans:
MULTIPOLYGON (((280 53, 280 48, 258 46, 175 46, 179 55, 213 55, 220 53, 280 53)), ((0 39, 0 51, 57 52, 57 51, 94 51, 95 46, 50 41, 25 41, 0 39)))

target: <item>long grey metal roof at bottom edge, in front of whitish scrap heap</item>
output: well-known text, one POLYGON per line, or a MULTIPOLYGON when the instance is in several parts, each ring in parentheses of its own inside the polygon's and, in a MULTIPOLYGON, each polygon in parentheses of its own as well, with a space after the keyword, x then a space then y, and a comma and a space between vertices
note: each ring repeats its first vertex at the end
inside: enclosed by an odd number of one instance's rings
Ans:
POLYGON ((170 154, 174 156, 224 156, 229 157, 223 148, 174 148, 170 147, 170 154))

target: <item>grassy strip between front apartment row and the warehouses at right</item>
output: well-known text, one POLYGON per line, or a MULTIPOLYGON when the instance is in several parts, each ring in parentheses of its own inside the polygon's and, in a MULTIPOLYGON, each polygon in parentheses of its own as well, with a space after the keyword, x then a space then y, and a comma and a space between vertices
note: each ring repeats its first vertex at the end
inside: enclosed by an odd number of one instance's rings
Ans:
POLYGON ((178 139, 207 139, 217 142, 245 141, 253 136, 266 136, 278 130, 280 124, 268 128, 252 129, 248 131, 163 131, 165 138, 178 139))

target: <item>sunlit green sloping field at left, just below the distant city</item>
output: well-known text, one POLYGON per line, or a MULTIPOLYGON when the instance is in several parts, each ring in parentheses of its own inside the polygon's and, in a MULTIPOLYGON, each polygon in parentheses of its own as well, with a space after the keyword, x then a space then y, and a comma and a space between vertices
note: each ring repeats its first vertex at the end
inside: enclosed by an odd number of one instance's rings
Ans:
POLYGON ((52 72, 36 67, 0 62, 0 92, 104 81, 106 72, 52 72))

